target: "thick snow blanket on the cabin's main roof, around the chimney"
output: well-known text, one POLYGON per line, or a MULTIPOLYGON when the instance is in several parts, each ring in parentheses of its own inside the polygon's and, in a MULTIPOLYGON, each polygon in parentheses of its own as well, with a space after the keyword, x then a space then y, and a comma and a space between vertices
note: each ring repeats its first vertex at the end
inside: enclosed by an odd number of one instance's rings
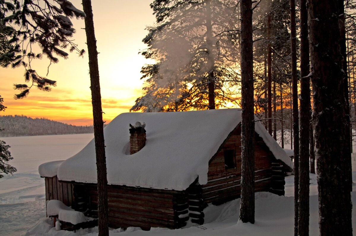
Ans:
MULTIPOLYGON (((188 112, 122 113, 104 129, 108 184, 185 190, 199 177, 208 181, 211 157, 241 122, 240 109, 188 112), (129 124, 146 124, 146 145, 130 155, 129 124)), ((282 148, 256 122, 255 130, 273 155, 291 168, 282 148)), ((96 183, 94 139, 58 168, 62 181, 96 183)))

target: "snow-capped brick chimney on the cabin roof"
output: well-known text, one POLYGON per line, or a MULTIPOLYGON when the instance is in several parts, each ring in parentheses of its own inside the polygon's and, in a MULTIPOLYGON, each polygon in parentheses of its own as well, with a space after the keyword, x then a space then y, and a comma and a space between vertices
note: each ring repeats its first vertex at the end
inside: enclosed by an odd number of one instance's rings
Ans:
POLYGON ((136 122, 135 125, 130 124, 130 154, 140 151, 146 144, 146 124, 136 122))

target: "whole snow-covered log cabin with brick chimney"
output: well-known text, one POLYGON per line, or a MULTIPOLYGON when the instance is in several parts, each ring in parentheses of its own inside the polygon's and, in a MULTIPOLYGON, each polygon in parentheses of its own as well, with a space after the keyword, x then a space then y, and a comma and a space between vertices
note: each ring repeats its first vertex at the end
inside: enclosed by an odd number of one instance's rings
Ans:
MULTIPOLYGON (((105 127, 104 137, 112 228, 203 224, 208 204, 240 197, 241 109, 123 113, 105 127)), ((284 195, 284 176, 292 168, 256 121, 255 191, 284 195)), ((39 172, 46 200, 95 216, 94 139, 65 161, 42 164, 39 172)))

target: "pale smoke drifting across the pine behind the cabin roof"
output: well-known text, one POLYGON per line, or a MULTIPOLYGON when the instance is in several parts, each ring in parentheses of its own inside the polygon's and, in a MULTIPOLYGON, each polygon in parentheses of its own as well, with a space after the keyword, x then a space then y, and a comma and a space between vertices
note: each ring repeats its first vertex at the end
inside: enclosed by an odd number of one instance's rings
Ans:
MULTIPOLYGON (((140 100, 145 106, 154 104, 150 111, 161 111, 164 105, 179 102, 184 96, 190 96, 191 101, 194 96, 197 101, 206 97, 211 65, 216 71, 215 79, 229 79, 230 84, 231 80, 239 79, 237 1, 210 0, 210 15, 207 14, 206 2, 189 4, 185 1, 170 12, 169 21, 163 22, 164 27, 159 27, 160 30, 152 35, 149 45, 159 61, 159 70, 149 80, 151 86, 148 87, 156 91, 147 91, 140 100)), ((225 93, 225 97, 231 93, 227 88, 224 91, 222 82, 217 81, 216 84, 219 85, 216 86, 218 93, 225 93)), ((229 85, 226 83, 226 86, 229 85)))

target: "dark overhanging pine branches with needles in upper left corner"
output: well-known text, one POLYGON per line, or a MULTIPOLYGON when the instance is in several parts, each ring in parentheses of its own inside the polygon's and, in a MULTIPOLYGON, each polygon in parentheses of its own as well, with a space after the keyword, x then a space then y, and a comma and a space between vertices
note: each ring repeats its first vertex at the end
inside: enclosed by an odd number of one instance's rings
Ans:
POLYGON ((51 91, 56 81, 37 74, 31 67, 31 61, 42 59, 45 55, 49 65, 58 63, 58 57, 68 58, 63 49, 84 54, 79 50, 71 37, 75 33, 70 18, 83 18, 83 11, 78 10, 67 0, 57 0, 50 3, 47 0, 10 0, 0 1, 0 65, 25 68, 25 82, 14 84, 15 90, 20 90, 15 99, 28 95, 32 87, 41 91, 51 91), (2 42, 2 43, 1 43, 2 42), (42 52, 35 52, 34 45, 40 46, 42 52))

